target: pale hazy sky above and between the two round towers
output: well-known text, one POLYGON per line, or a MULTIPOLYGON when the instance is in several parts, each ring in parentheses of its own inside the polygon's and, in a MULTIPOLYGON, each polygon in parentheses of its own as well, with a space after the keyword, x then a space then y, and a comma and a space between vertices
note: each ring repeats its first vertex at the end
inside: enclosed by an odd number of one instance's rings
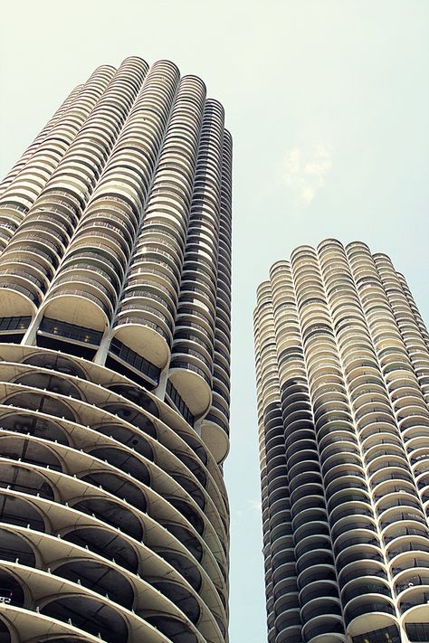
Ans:
POLYGON ((0 175, 74 85, 129 55, 205 80, 234 138, 230 643, 266 640, 257 285, 325 237, 366 241, 429 320, 429 0, 22 0, 0 39, 0 175))

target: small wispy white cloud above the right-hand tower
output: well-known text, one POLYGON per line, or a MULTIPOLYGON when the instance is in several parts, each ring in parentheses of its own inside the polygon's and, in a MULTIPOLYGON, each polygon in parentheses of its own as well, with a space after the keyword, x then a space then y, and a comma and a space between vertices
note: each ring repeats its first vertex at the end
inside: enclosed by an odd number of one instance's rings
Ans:
POLYGON ((283 158, 281 176, 298 203, 307 207, 325 184, 331 166, 329 146, 319 143, 307 149, 293 147, 283 158))

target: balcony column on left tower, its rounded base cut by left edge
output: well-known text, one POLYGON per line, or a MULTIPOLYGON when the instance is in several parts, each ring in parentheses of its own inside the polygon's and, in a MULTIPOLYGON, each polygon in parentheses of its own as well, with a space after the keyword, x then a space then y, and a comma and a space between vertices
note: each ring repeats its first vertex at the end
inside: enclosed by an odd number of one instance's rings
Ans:
MULTIPOLYGON (((111 72, 111 80, 106 80, 107 87, 103 87, 91 114, 6 245, 0 256, 0 287, 7 288, 3 293, 6 314, 35 313, 47 290, 50 294, 52 288, 55 290, 52 277, 75 235, 81 213, 145 72, 146 63, 134 59, 124 61, 116 73, 111 72)), ((81 282, 91 284, 91 278, 81 275, 81 282)), ((78 288, 72 286, 68 292, 79 292, 78 288)))

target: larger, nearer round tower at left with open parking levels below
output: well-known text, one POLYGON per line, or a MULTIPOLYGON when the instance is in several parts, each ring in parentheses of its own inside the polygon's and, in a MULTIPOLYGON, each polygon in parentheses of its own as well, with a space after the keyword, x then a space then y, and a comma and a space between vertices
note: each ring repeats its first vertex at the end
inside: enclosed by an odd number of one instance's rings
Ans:
POLYGON ((138 57, 0 184, 0 640, 224 643, 231 154, 138 57))

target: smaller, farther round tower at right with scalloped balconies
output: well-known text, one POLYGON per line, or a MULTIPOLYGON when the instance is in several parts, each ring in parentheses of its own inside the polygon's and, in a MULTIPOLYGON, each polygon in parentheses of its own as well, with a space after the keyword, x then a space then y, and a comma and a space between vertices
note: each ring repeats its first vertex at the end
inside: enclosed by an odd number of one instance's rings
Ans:
POLYGON ((302 246, 254 315, 269 643, 429 640, 429 335, 365 243, 302 246))

